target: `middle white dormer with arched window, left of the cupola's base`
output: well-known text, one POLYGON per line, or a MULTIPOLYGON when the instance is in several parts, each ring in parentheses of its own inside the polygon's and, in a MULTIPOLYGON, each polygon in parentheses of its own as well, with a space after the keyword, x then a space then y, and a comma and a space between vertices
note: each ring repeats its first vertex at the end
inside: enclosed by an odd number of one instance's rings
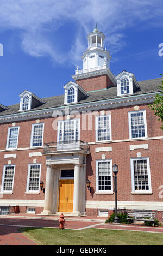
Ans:
POLYGON ((84 91, 84 89, 78 85, 76 82, 68 82, 64 86, 65 90, 65 100, 64 104, 77 103, 82 99, 85 99, 89 94, 84 91))

